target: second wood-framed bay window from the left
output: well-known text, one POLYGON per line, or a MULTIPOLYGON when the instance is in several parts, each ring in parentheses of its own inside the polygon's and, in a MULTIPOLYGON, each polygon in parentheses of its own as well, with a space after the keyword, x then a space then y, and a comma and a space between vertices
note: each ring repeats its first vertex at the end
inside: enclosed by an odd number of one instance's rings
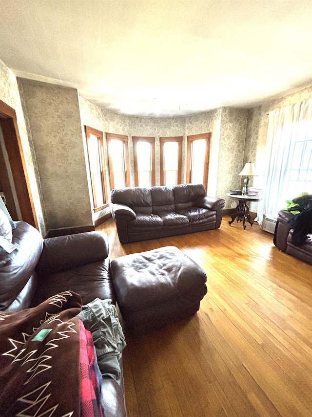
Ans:
POLYGON ((130 187, 128 136, 106 133, 111 190, 130 187))

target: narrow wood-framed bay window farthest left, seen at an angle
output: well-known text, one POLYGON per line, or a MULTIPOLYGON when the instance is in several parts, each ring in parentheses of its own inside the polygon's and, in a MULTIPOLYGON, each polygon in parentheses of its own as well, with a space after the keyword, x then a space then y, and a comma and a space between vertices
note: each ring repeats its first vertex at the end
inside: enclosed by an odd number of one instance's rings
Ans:
POLYGON ((108 206, 107 187, 104 167, 103 133, 85 127, 92 184, 94 211, 108 206))

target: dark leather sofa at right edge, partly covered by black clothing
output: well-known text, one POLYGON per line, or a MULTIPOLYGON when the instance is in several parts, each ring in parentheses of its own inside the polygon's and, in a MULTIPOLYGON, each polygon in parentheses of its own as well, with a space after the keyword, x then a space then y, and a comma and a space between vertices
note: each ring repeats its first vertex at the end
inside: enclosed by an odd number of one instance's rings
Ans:
POLYGON ((299 246, 293 243, 294 229, 289 223, 293 217, 293 214, 287 210, 281 210, 278 213, 274 232, 274 244, 282 252, 312 264, 312 241, 305 237, 303 243, 299 246))

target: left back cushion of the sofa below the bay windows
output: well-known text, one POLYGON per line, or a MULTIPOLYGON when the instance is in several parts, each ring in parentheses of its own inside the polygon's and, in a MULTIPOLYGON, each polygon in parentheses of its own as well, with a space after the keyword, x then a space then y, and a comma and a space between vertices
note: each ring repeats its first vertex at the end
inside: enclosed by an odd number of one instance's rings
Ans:
POLYGON ((128 187, 119 190, 112 190, 112 203, 125 204, 135 213, 152 213, 152 195, 150 188, 128 187))

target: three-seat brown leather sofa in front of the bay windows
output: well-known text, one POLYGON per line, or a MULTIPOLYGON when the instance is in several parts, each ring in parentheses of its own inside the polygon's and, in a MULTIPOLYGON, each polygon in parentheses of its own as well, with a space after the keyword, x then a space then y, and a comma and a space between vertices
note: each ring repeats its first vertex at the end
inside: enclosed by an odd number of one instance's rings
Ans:
POLYGON ((202 184, 114 189, 111 200, 121 243, 216 229, 225 204, 207 197, 202 184))

